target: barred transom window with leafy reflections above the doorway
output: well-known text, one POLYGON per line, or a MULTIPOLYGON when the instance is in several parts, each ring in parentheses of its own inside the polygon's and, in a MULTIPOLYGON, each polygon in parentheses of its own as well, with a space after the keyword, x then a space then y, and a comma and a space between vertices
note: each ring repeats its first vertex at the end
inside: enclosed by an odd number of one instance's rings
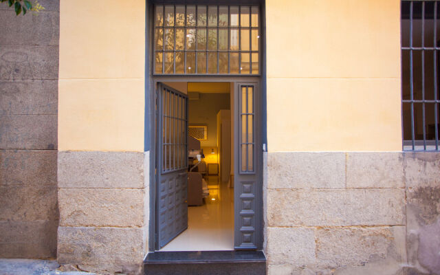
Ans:
POLYGON ((259 7, 155 5, 155 74, 260 74, 259 7))

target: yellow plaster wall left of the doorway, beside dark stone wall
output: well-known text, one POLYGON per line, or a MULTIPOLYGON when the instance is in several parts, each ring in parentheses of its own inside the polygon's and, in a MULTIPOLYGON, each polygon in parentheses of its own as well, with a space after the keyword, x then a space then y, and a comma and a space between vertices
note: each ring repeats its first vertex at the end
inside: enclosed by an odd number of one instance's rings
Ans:
POLYGON ((144 0, 61 1, 58 150, 144 150, 144 0))

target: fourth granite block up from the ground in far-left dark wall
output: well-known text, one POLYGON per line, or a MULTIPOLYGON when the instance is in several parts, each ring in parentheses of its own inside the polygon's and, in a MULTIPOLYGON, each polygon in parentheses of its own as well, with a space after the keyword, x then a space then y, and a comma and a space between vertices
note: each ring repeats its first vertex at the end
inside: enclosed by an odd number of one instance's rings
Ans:
POLYGON ((57 115, 0 115, 0 148, 56 149, 57 115))

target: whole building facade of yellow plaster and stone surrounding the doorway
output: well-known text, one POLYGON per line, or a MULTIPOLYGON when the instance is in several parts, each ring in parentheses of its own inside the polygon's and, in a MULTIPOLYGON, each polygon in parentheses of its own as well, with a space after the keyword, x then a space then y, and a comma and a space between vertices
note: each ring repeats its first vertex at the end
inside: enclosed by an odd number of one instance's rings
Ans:
MULTIPOLYGON (((151 17, 157 5, 212 3, 41 4, 46 10, 38 17, 0 10, 0 257, 140 274, 157 233, 154 104, 155 84, 163 80, 154 71, 151 17), (11 32, 17 23, 23 29, 11 32)), ((252 218, 267 274, 440 274, 440 5, 239 4, 259 7, 261 18, 261 124, 253 131, 263 148, 255 151, 262 165, 252 218), (432 17, 423 15, 430 9, 432 17), (421 45, 405 45, 406 23, 411 38, 417 26, 423 30, 421 45), (430 46, 423 44, 428 23, 430 46), (416 47, 433 52, 420 59, 423 68, 434 63, 432 99, 424 94, 431 71, 413 65, 416 47), (412 110, 409 117, 405 110, 412 110)), ((219 76, 197 77, 191 79, 219 76)))

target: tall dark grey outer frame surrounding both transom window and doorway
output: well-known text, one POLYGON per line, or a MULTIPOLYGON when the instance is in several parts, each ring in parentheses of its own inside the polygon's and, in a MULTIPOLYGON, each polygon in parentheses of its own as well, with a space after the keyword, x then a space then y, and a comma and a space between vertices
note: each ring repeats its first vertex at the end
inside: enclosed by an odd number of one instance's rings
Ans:
MULTIPOLYGON (((150 188, 150 213, 149 213, 149 226, 148 226, 148 252, 155 251, 155 194, 156 194, 156 177, 155 177, 155 159, 156 159, 156 87, 158 82, 233 82, 243 83, 249 82, 259 83, 259 91, 261 100, 261 139, 263 144, 265 144, 265 150, 267 151, 267 122, 266 122, 266 27, 265 27, 265 1, 264 0, 146 0, 146 72, 145 72, 145 151, 149 151, 150 157, 150 177, 149 177, 149 188, 150 188), (259 4, 260 5, 260 19, 261 19, 261 74, 260 76, 153 76, 153 19, 154 19, 154 4, 201 4, 201 5, 245 5, 245 4, 259 4)), ((262 150, 262 148, 258 148, 262 150)), ((261 164, 263 164, 263 159, 261 159, 261 164)), ((262 168, 261 168, 262 173, 262 168)), ((261 181, 263 179, 261 178, 261 181)), ((260 186, 258 190, 261 197, 263 196, 263 186, 260 186)), ((263 205, 261 205, 263 208, 263 205)), ((263 212, 261 212, 261 227, 259 228, 259 234, 261 236, 259 243, 257 243, 257 249, 261 250, 263 246, 263 212)))

